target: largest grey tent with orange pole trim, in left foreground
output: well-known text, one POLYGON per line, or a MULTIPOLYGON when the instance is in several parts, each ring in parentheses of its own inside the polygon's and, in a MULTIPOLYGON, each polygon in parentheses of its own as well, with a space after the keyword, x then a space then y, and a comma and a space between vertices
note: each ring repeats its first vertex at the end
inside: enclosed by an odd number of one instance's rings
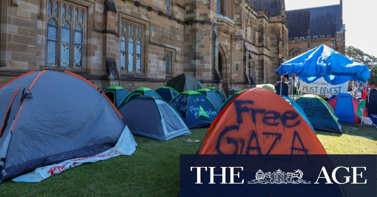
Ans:
POLYGON ((125 127, 104 93, 74 73, 18 76, 0 86, 0 180, 101 153, 125 127))

